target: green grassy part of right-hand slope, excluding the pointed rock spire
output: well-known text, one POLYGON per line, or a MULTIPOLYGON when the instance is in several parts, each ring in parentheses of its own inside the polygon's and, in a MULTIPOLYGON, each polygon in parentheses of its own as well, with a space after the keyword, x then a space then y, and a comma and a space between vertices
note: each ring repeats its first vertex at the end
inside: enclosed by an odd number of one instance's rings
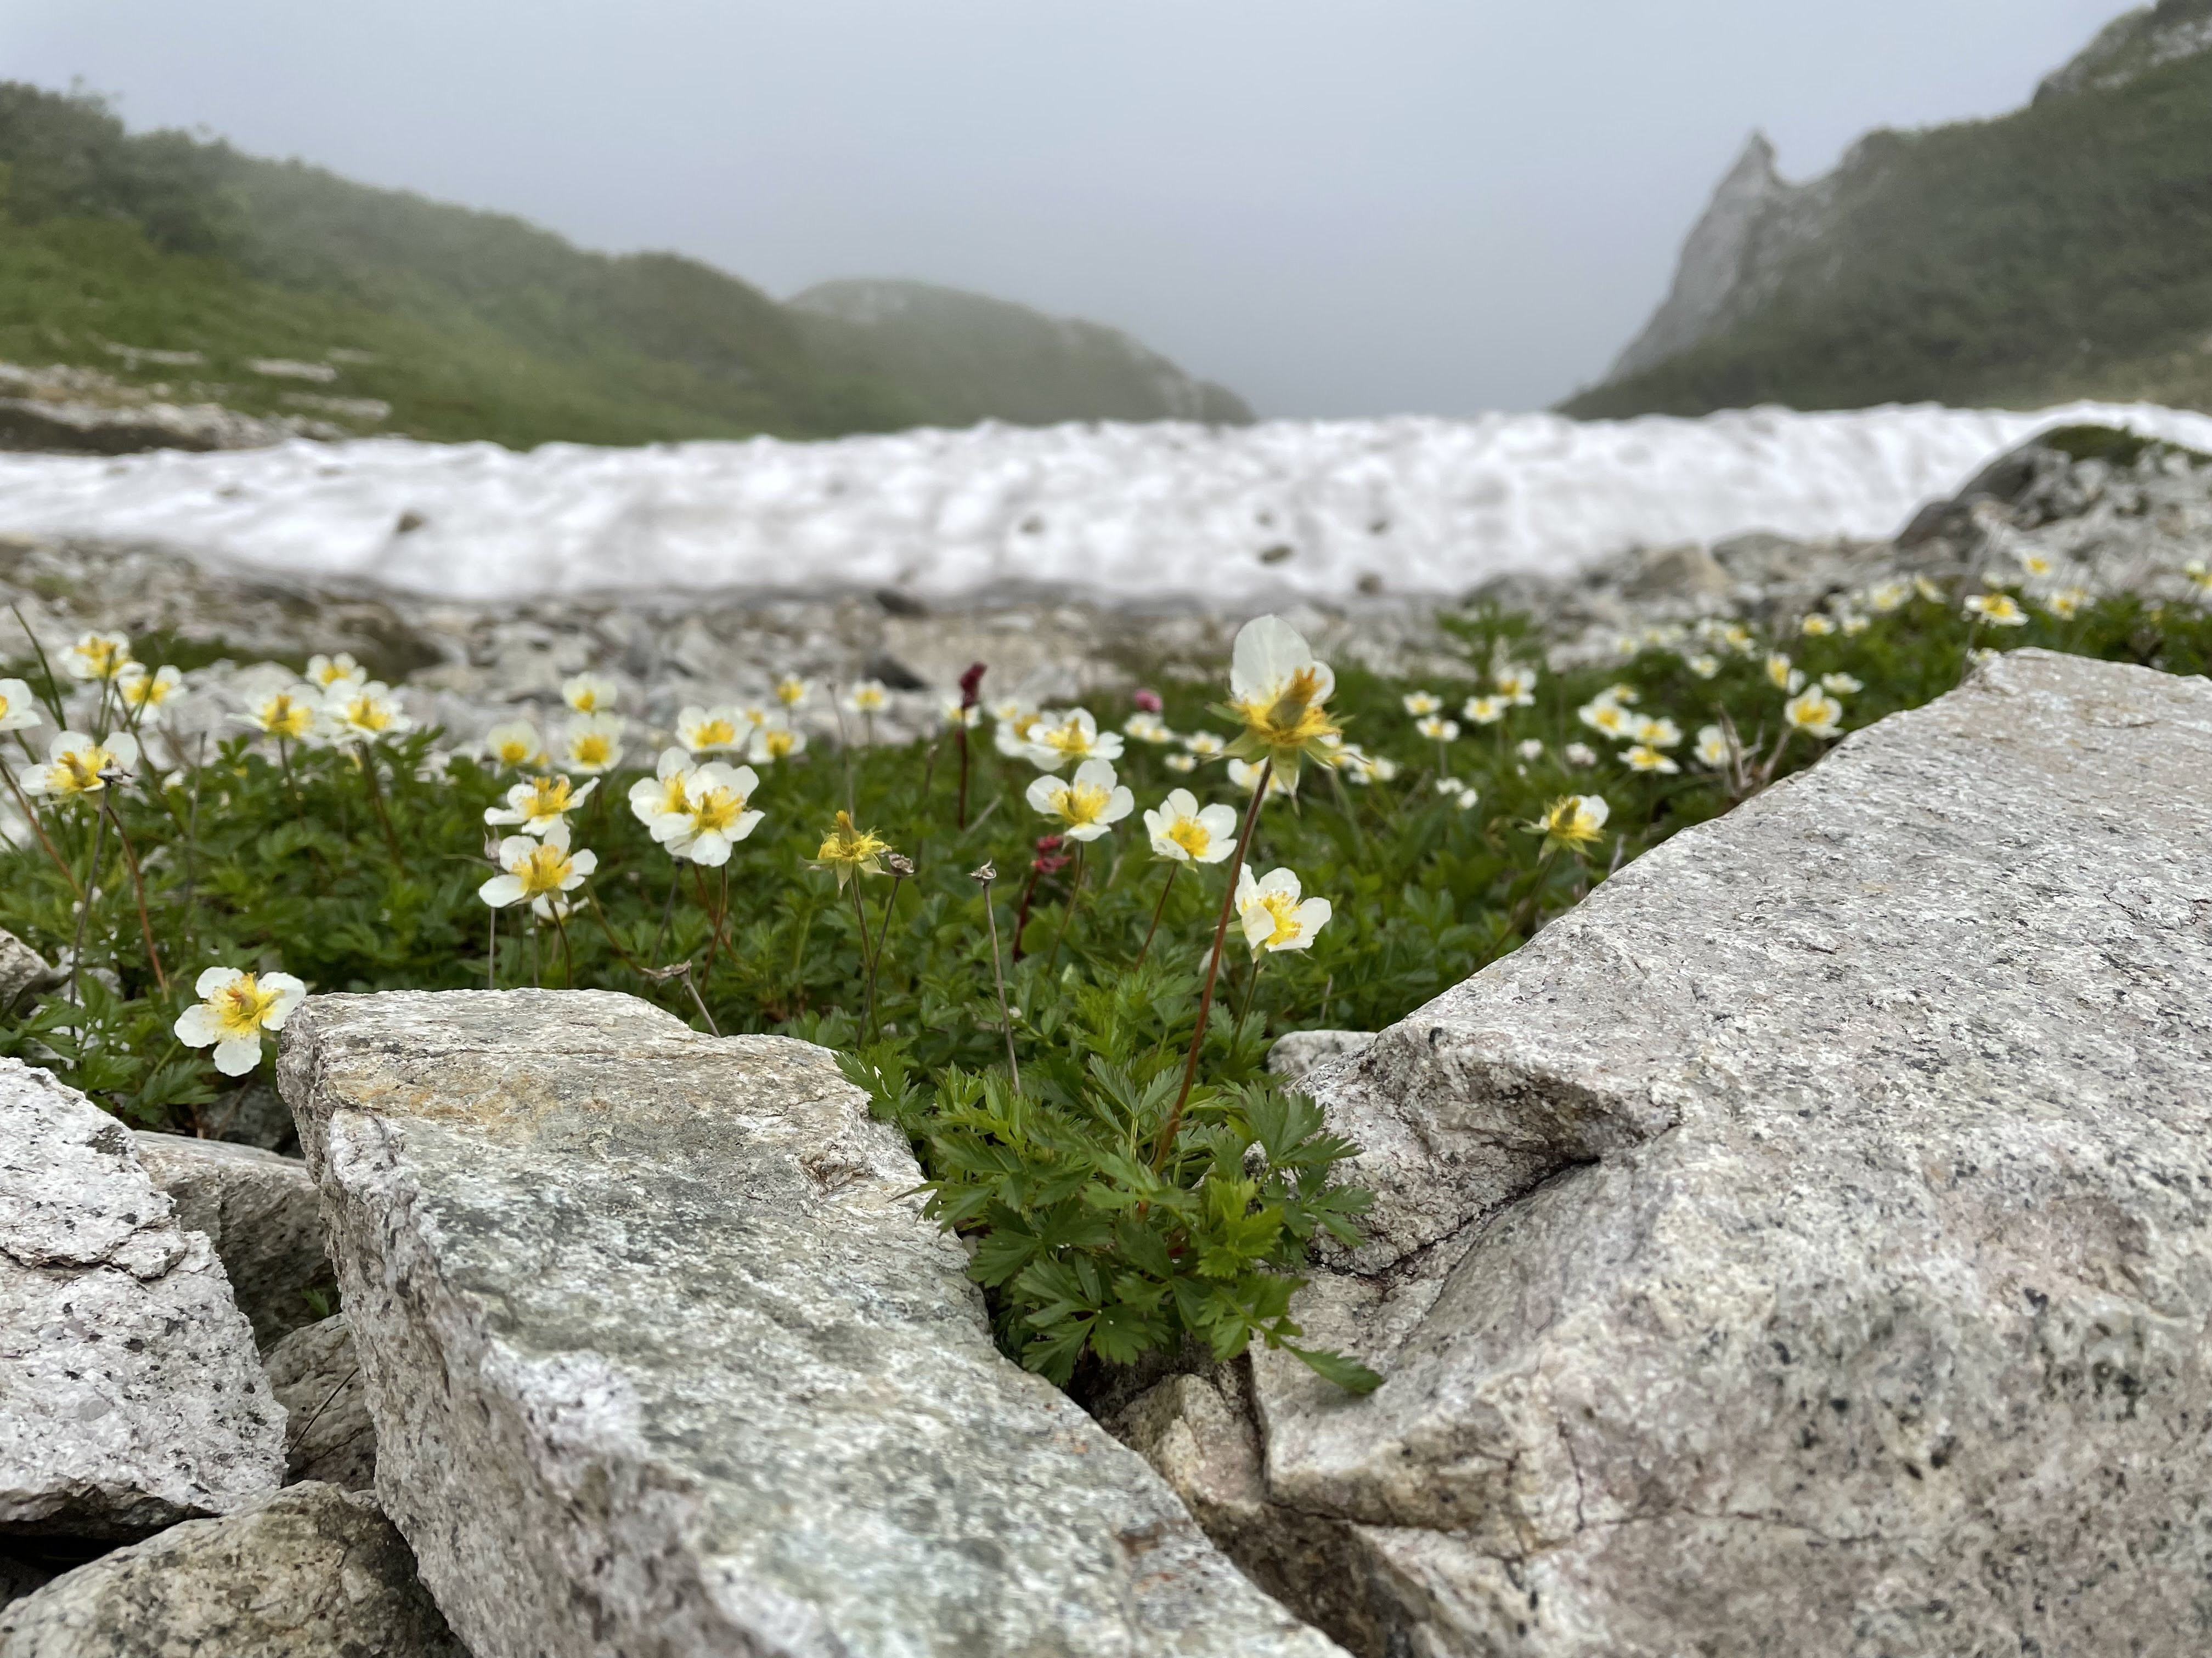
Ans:
POLYGON ((2212 407, 2212 55, 1882 135, 1759 316, 1575 416, 2077 396, 2212 407))

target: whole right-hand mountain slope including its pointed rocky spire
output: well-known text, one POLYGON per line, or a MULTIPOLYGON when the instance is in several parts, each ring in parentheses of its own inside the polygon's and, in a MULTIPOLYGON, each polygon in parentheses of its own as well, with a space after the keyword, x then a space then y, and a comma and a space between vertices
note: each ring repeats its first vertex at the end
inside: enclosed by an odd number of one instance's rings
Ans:
POLYGON ((1874 133, 1825 179, 1787 183, 1754 137, 1666 303, 1562 407, 2212 407, 2208 250, 2212 0, 2163 0, 2028 108, 1874 133))

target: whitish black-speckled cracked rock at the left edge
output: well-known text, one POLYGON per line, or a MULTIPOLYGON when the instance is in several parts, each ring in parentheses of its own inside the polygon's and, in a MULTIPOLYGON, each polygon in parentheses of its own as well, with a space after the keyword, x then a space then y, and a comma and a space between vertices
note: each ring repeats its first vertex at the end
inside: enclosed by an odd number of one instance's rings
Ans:
POLYGON ((0 1539, 133 1539, 283 1483, 283 1413, 215 1249, 131 1132, 0 1059, 0 1539))

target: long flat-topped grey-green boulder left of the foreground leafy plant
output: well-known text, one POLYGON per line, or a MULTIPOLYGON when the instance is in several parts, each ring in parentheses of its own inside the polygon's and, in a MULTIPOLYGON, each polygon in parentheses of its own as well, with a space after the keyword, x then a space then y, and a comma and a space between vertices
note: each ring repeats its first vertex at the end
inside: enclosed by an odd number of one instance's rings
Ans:
POLYGON ((991 1346, 830 1054, 606 993, 312 997, 376 1490, 478 1658, 1336 1651, 991 1346))

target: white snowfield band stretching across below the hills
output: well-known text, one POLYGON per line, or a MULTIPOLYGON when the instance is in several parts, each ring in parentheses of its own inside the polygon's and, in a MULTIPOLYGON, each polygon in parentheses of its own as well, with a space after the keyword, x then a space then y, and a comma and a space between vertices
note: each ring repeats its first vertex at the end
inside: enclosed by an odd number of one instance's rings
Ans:
POLYGON ((453 599, 1057 588, 1225 608, 1455 595, 1502 570, 1741 531, 1882 537, 2004 449, 2079 420, 2212 449, 2212 416, 2112 405, 987 424, 533 453, 372 438, 0 455, 0 533, 161 542, 223 568, 453 599))

